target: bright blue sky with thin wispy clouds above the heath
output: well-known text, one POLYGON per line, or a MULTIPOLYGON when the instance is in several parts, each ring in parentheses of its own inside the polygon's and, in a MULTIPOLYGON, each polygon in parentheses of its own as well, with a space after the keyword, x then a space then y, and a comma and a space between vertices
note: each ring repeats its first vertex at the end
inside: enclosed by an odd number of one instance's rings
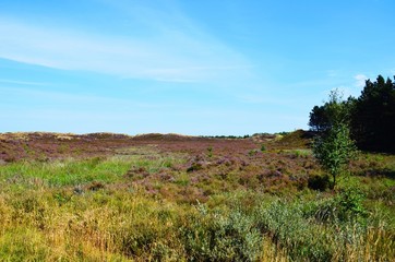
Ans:
POLYGON ((395 75, 392 0, 2 0, 0 132, 307 129, 395 75))

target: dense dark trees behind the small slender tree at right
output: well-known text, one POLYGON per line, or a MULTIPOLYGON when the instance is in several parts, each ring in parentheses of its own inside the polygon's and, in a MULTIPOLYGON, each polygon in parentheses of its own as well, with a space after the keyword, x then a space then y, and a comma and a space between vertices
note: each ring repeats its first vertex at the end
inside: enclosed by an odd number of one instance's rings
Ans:
POLYGON ((358 98, 314 106, 309 126, 313 131, 325 133, 339 121, 349 126, 359 148, 394 153, 395 81, 379 75, 374 82, 366 81, 358 98))

